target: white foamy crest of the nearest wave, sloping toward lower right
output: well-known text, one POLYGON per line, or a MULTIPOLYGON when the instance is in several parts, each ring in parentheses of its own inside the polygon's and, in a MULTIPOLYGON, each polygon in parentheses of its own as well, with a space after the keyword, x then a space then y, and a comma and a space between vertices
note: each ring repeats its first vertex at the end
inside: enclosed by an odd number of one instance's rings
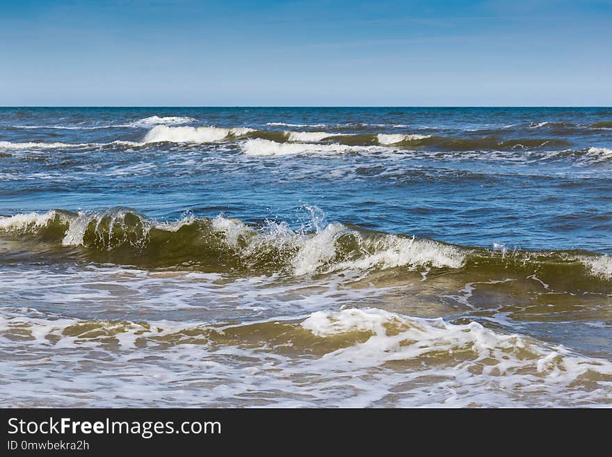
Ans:
MULTIPOLYGON (((452 378, 458 373, 469 378, 497 378, 497 382, 510 377, 511 384, 516 376, 521 383, 528 377, 530 383, 540 385, 567 385, 602 376, 612 381, 612 362, 608 360, 581 357, 529 337, 499 334, 476 322, 456 325, 368 308, 314 312, 301 325, 319 337, 349 332, 372 335, 365 342, 324 356, 338 367, 349 362, 357 368, 427 358, 453 365, 456 374, 452 378)), ((426 369, 426 365, 414 368, 426 369)))

